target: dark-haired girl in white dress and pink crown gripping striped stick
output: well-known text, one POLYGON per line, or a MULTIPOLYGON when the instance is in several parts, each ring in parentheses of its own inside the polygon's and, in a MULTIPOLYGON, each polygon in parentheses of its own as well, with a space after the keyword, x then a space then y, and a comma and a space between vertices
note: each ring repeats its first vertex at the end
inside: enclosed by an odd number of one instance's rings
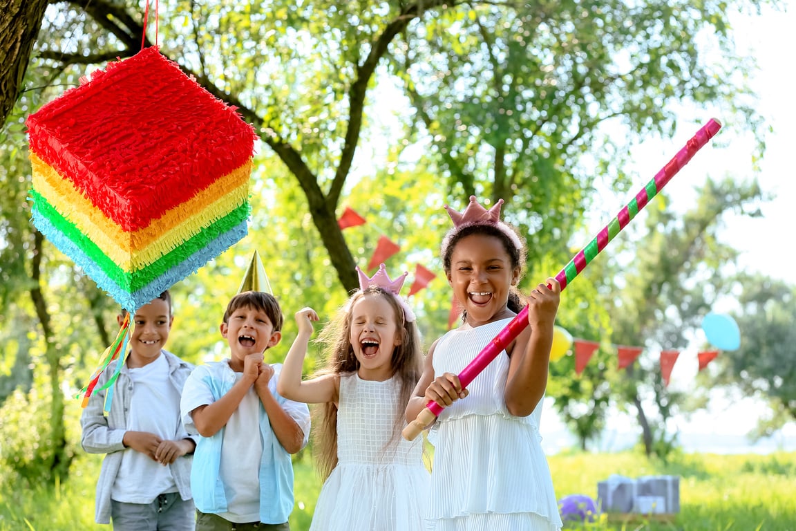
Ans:
POLYGON ((539 435, 561 292, 556 279, 533 289, 529 326, 469 388, 457 376, 522 307, 515 286, 525 244, 500 221, 502 202, 487 211, 470 197, 463 213, 448 209, 454 228, 441 251, 463 322, 431 346, 406 410, 412 421, 431 400, 445 408, 429 434, 435 453, 428 529, 434 531, 562 526, 539 435))

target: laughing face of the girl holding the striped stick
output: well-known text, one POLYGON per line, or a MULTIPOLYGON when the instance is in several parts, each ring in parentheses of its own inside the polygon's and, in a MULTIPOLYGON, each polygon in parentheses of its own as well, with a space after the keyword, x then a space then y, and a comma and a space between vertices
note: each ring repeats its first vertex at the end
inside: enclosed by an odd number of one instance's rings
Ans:
POLYGON ((472 234, 458 240, 451 253, 448 283, 467 312, 467 324, 478 326, 510 317, 509 288, 520 279, 503 242, 495 236, 472 234))

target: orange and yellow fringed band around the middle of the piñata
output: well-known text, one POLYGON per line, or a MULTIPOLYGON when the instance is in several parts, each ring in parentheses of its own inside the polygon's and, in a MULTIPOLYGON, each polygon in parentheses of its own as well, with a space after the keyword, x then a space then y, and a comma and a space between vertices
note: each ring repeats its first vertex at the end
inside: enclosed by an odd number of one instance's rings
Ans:
POLYGON ((248 181, 252 173, 250 159, 189 201, 153 220, 146 228, 125 232, 92 205, 71 180, 62 178, 53 166, 33 152, 30 161, 33 189, 125 271, 138 271, 152 264, 213 221, 243 205, 248 201, 248 181))

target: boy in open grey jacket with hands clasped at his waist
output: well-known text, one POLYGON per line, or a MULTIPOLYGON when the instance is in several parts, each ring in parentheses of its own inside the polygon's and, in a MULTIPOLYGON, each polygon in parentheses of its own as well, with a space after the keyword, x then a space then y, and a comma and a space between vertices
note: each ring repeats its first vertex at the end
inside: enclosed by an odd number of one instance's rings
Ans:
MULTIPOLYGON (((119 325, 124 314, 119 315, 119 325)), ((108 416, 107 390, 92 394, 80 417, 85 451, 106 454, 96 489, 96 521, 114 531, 189 531, 193 435, 180 420, 180 396, 193 365, 163 349, 174 316, 164 291, 131 316, 135 328, 115 382, 108 416)), ((100 375, 101 388, 119 360, 100 375)))

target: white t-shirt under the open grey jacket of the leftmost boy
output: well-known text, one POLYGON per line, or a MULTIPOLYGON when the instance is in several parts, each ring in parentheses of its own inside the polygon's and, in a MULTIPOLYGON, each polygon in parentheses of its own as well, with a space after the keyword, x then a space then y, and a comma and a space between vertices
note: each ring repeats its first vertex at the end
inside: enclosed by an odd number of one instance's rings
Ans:
MULTIPOLYGON (((132 381, 128 431, 148 431, 161 439, 174 439, 180 424, 180 393, 169 381, 169 362, 162 354, 151 363, 128 369, 132 381)), ((122 464, 111 489, 111 499, 151 503, 158 495, 177 492, 169 467, 132 448, 124 450, 122 464)))

